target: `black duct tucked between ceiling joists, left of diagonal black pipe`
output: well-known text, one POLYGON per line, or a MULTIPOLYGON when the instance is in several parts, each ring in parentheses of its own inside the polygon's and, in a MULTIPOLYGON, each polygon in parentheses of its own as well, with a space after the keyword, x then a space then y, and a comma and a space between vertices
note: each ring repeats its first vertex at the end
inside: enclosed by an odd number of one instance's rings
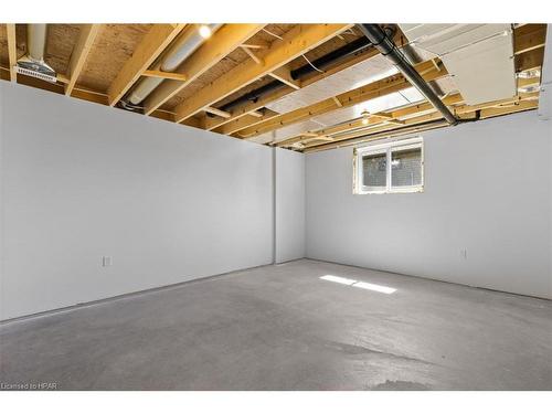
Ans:
MULTIPOLYGON (((389 30, 391 31, 390 34, 392 35, 394 30, 392 30, 391 28, 389 30)), ((322 70, 340 59, 347 57, 347 56, 354 54, 354 53, 359 53, 359 52, 363 51, 364 49, 371 47, 371 46, 372 46, 372 43, 370 43, 370 41, 367 38, 359 38, 359 39, 352 41, 351 43, 348 43, 344 46, 341 46, 341 47, 312 61, 311 62, 312 64, 307 63, 307 64, 291 71, 290 75, 294 79, 298 79, 305 75, 308 75, 308 74, 315 72, 316 68, 322 70)), ((235 100, 232 100, 232 102, 221 106, 219 109, 230 112, 232 108, 236 107, 240 104, 243 104, 245 102, 257 102, 263 95, 265 95, 269 92, 274 92, 276 89, 279 89, 284 86, 286 86, 286 85, 279 81, 270 82, 264 86, 256 88, 255 91, 252 91, 252 92, 238 97, 235 100)))

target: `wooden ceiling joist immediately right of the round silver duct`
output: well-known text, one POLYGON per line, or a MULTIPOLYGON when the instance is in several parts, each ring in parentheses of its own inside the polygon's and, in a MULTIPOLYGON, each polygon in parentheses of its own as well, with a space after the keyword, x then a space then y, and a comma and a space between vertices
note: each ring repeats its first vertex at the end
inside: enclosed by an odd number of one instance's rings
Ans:
POLYGON ((174 71, 176 73, 185 75, 187 81, 164 81, 145 99, 144 113, 150 115, 257 33, 263 26, 264 24, 224 24, 174 71))

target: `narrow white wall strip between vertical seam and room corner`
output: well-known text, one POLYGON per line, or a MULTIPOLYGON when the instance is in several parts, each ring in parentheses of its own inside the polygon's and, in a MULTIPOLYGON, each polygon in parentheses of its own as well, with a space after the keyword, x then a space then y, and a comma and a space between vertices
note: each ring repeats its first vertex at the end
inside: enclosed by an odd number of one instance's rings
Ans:
POLYGON ((275 262, 283 263, 305 257, 305 155, 275 151, 275 262))

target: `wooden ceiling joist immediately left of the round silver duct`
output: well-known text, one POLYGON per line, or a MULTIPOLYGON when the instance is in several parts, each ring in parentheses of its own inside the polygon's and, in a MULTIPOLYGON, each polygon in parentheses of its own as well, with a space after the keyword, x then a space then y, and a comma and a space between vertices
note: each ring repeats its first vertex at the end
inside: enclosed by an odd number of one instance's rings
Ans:
POLYGON ((116 105, 119 99, 132 87, 140 75, 169 46, 174 38, 185 28, 185 24, 153 24, 142 41, 136 46, 132 56, 125 63, 117 77, 107 89, 109 106, 116 105))

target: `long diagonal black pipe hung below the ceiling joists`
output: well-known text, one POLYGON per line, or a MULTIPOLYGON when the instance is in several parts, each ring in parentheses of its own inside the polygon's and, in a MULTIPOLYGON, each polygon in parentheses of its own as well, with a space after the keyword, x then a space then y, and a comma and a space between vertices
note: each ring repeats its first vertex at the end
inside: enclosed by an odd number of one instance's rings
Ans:
POLYGON ((388 57, 396 66, 399 71, 408 79, 412 86, 416 87, 422 95, 443 114, 445 119, 450 125, 458 124, 458 119, 448 110, 445 104, 439 99, 439 97, 433 92, 433 89, 427 85, 422 76, 416 72, 416 70, 411 65, 411 63, 404 57, 402 52, 396 47, 392 39, 380 28, 379 24, 359 24, 362 33, 368 38, 368 40, 376 47, 382 55, 388 57))

